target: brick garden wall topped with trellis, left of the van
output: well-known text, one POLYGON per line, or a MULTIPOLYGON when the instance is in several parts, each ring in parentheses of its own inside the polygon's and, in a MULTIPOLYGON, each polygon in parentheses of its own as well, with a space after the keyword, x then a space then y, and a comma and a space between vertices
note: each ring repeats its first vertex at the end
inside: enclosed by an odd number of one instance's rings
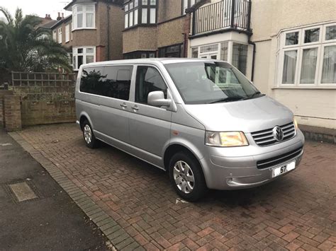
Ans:
POLYGON ((13 72, 10 91, 0 90, 0 126, 13 131, 75 122, 75 79, 75 74, 13 72))

